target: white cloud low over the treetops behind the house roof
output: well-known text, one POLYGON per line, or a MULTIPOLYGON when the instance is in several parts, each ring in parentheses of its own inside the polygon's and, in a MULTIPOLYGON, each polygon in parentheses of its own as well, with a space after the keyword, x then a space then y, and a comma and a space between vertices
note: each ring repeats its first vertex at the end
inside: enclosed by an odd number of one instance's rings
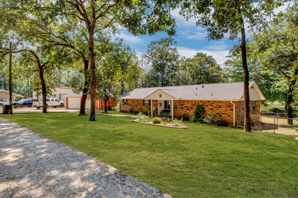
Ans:
POLYGON ((229 50, 214 50, 214 51, 204 50, 204 49, 196 50, 193 48, 179 47, 179 46, 177 46, 176 48, 179 51, 179 54, 181 54, 181 56, 185 56, 186 58, 191 58, 195 56, 195 54, 198 52, 206 53, 207 55, 213 56, 213 58, 216 60, 218 64, 224 64, 224 62, 228 60, 226 56, 229 55, 229 50))

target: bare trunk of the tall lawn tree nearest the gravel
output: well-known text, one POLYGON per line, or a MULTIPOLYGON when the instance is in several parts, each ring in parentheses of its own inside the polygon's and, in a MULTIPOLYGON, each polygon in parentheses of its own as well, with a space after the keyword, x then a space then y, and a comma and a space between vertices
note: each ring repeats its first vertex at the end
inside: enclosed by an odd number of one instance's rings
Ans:
POLYGON ((90 56, 90 118, 89 121, 97 121, 95 117, 95 100, 96 100, 96 73, 95 73, 95 52, 93 32, 89 32, 89 56, 90 56))

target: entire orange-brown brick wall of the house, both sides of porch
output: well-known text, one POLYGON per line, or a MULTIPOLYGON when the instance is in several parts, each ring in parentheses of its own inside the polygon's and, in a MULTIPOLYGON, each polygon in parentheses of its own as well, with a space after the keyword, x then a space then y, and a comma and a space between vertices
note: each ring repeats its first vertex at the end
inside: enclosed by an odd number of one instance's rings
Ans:
MULTIPOLYGON (((122 105, 122 100, 120 102, 120 109, 128 111, 133 109, 133 111, 145 111, 145 106, 143 105, 143 100, 128 99, 127 105, 122 105)), ((235 123, 237 123, 237 114, 240 109, 243 108, 244 112, 244 101, 234 101, 235 102, 235 123), (241 106, 241 104, 243 104, 241 106)), ((230 101, 214 101, 214 100, 175 100, 174 101, 174 117, 181 117, 184 114, 193 116, 193 111, 197 106, 202 106, 205 108, 205 113, 203 117, 210 114, 216 115, 221 120, 225 120, 229 125, 233 125, 233 104, 230 101)), ((158 100, 153 100, 153 107, 157 110, 158 100), (154 104, 155 102, 155 104, 154 104)), ((151 114, 151 106, 148 106, 149 115, 151 114)), ((255 110, 252 110, 252 101, 250 101, 250 114, 260 115, 260 100, 255 101, 255 110)))

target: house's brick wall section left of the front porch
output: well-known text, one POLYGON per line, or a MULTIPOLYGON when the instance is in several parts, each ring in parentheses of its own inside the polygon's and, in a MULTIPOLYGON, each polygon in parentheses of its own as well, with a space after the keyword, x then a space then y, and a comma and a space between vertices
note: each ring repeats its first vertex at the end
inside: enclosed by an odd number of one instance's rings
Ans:
MULTIPOLYGON (((153 107, 157 111, 158 100, 152 100, 152 103, 153 103, 153 107)), ((150 104, 148 106, 149 115, 151 115, 151 105, 152 104, 150 104)), ((146 110, 146 106, 143 105, 143 100, 142 99, 128 99, 126 105, 122 104, 122 100, 120 101, 120 111, 129 112, 130 109, 132 109, 132 111, 138 111, 138 112, 142 111, 142 112, 144 112, 146 110)))

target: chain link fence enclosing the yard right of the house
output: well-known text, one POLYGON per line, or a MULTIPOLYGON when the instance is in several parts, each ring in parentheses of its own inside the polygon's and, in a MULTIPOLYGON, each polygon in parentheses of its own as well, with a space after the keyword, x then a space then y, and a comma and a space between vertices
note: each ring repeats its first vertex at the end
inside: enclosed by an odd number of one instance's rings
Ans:
MULTIPOLYGON (((274 113, 274 112, 271 112, 274 113)), ((274 113, 276 114, 276 113, 274 113)), ((273 115, 266 113, 265 115, 273 115)), ((298 136, 298 119, 287 118, 284 114, 276 116, 264 116, 264 114, 250 115, 253 131, 277 133, 288 136, 298 136), (278 117, 280 116, 280 117, 278 117)))

